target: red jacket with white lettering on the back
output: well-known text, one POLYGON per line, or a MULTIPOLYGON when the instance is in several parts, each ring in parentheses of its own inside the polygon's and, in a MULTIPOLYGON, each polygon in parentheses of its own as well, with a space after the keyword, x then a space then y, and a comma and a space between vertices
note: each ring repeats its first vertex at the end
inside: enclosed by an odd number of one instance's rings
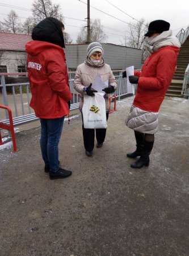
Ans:
POLYGON ((72 99, 64 49, 56 44, 31 41, 26 44, 31 108, 39 118, 61 118, 69 114, 72 99))

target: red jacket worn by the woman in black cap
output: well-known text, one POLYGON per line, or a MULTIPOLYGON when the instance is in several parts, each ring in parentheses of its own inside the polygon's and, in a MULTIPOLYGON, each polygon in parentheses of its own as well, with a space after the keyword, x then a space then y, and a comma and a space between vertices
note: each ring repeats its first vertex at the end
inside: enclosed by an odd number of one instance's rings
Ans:
POLYGON ((141 72, 135 71, 139 79, 133 105, 149 112, 159 111, 173 79, 178 53, 176 46, 162 47, 146 59, 141 72))

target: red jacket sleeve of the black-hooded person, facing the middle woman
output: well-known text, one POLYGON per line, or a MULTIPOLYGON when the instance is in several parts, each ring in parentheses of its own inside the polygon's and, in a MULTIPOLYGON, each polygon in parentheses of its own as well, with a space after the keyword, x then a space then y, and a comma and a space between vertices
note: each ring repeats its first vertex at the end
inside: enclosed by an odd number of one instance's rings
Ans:
POLYGON ((51 52, 48 56, 47 75, 52 90, 62 97, 63 100, 67 102, 72 100, 64 55, 58 50, 51 52))

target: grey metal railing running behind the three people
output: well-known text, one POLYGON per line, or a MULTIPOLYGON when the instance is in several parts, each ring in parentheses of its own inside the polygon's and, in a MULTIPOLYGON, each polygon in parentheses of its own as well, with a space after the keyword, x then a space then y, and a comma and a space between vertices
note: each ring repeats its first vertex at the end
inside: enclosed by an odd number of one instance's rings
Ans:
MULTIPOLYGON (((69 77, 75 72, 68 72, 69 77)), ((114 71, 115 78, 117 80, 117 90, 114 94, 118 100, 121 97, 127 97, 127 82, 126 79, 122 78, 122 71, 114 71)), ((34 113, 33 109, 30 107, 31 93, 30 84, 28 82, 27 73, 0 73, 0 104, 9 106, 12 110, 12 116, 18 117, 19 115, 26 115, 34 113), (19 77, 22 76, 22 82, 19 81, 19 77), (24 76, 26 82, 23 82, 24 76), (5 77, 15 77, 15 83, 7 83, 5 77), (2 93, 1 93, 2 92, 2 93)), ((79 93, 75 91, 74 79, 69 79, 70 90, 73 94, 70 109, 77 109, 79 106, 79 93)), ((7 119, 8 113, 5 114, 0 112, 0 119, 7 119)))

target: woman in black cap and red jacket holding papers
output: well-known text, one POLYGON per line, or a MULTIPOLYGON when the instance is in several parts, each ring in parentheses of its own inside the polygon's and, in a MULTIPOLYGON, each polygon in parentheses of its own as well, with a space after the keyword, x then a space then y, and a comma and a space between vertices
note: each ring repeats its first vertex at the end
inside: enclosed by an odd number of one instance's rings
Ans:
MULTIPOLYGON (((136 151, 129 158, 140 158, 132 168, 149 165, 149 155, 158 130, 158 112, 169 88, 177 65, 180 43, 169 30, 165 20, 154 20, 145 34, 151 55, 146 59, 141 72, 129 76, 129 82, 137 85, 137 91, 126 124, 135 131, 136 151)), ((125 77, 125 72, 123 77, 125 77)))

